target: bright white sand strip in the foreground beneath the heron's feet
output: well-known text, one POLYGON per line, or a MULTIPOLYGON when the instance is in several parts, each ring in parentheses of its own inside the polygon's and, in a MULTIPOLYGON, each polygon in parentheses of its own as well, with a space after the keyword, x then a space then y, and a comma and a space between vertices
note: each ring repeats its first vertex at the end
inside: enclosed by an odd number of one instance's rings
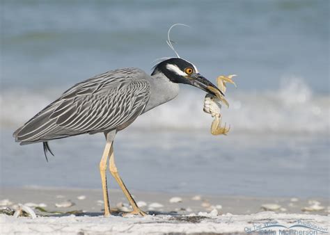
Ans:
MULTIPOLYGON (((299 222, 316 226, 320 230, 329 232, 329 216, 308 214, 286 214, 270 211, 251 215, 235 216, 225 214, 212 216, 211 213, 190 216, 146 216, 129 217, 110 216, 62 216, 62 217, 38 217, 36 219, 0 215, 1 234, 113 234, 113 233, 246 233, 256 227, 264 227, 265 222, 277 223, 287 228, 297 225, 299 222)), ((285 229, 284 227, 270 227, 273 231, 285 229)), ((292 227, 296 231, 308 231, 304 227, 292 227)), ((311 230, 313 231, 313 230, 311 230)), ((278 234, 278 232, 277 232, 278 234)))

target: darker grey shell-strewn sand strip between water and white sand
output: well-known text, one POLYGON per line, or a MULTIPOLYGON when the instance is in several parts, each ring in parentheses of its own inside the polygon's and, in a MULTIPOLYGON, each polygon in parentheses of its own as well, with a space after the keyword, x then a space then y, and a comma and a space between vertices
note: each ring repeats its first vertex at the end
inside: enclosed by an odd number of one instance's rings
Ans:
MULTIPOLYGON (((327 215, 329 200, 325 198, 285 198, 285 197, 240 197, 231 195, 194 195, 194 194, 170 194, 170 193, 149 193, 132 191, 136 202, 146 203, 141 206, 144 211, 159 211, 166 213, 189 214, 198 212, 210 212, 216 208, 219 213, 249 214, 258 213, 267 209, 262 208, 265 204, 277 204, 281 206, 274 211, 285 213, 316 213, 327 215), (172 200, 173 197, 180 197, 182 202, 172 200), (304 211, 313 202, 320 202, 324 206, 320 211, 304 211), (152 203, 162 204, 162 206, 152 206, 152 203), (151 204, 151 206, 150 206, 151 204)), ((0 201, 8 199, 15 204, 46 204, 47 211, 84 211, 86 213, 102 213, 102 191, 99 189, 86 188, 1 188, 0 201), (82 197, 79 197, 82 196, 82 197), (79 198, 78 198, 79 197, 79 198), (55 204, 61 202, 72 202, 70 207, 56 207, 55 204)), ((129 207, 128 202, 120 190, 109 190, 109 200, 112 209, 118 209, 119 204, 129 207)), ((2 206, 3 207, 3 206, 2 206)), ((270 210, 270 209, 269 209, 270 210)), ((37 211, 39 212, 39 211, 37 211)), ((41 212, 41 211, 40 211, 41 212)))

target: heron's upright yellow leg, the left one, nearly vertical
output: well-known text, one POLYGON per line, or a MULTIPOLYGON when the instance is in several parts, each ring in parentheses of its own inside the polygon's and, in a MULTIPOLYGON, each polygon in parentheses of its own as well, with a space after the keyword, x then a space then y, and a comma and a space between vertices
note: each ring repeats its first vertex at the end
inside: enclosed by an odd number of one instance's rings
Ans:
POLYGON ((103 191, 103 200, 104 200, 104 216, 110 216, 110 206, 109 206, 109 197, 108 197, 108 188, 107 188, 107 161, 110 149, 112 147, 112 141, 108 142, 104 147, 104 152, 102 159, 100 161, 100 174, 102 180, 102 191, 103 191))

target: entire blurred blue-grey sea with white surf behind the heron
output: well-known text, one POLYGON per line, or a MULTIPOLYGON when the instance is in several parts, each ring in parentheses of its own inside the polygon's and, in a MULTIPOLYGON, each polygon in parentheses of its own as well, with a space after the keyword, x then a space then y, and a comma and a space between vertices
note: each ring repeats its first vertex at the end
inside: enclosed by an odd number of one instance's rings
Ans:
MULTIPOLYGON (((179 97, 118 134, 129 188, 329 197, 329 1, 1 1, 1 186, 99 188, 104 138, 21 147, 11 136, 68 87, 118 67, 152 72, 175 48, 208 79, 238 74, 211 136, 204 93, 179 97)), ((111 181, 111 187, 116 187, 111 181)))

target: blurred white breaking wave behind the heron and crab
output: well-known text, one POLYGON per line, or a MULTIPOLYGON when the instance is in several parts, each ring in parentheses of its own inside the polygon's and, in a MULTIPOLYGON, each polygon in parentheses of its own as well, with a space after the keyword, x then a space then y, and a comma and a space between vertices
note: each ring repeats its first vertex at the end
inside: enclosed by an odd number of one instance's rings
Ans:
MULTIPOLYGON (((1 129, 15 129, 56 99, 59 90, 1 92, 1 129)), ((184 87, 172 102, 139 117, 134 129, 209 129, 212 117, 203 112, 203 92, 184 87)), ((229 88, 223 122, 231 131, 250 133, 329 133, 329 95, 314 95, 302 79, 283 79, 280 88, 239 92, 229 88), (285 82, 284 82, 285 81, 285 82)))

